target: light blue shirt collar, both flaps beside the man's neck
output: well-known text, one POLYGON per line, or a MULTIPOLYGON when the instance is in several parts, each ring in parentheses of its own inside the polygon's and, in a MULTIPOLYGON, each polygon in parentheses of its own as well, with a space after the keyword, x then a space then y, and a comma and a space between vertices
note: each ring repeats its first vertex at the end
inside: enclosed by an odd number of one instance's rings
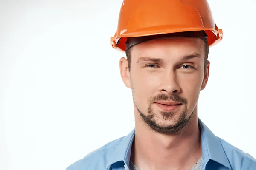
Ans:
MULTIPOLYGON (((202 153, 203 161, 202 167, 205 169, 209 159, 222 164, 223 166, 231 169, 230 163, 227 159, 227 156, 224 152, 220 140, 212 133, 209 128, 204 125, 204 123, 198 118, 198 124, 201 129, 201 143, 202 143, 202 153)), ((130 156, 131 156, 131 146, 134 140, 135 129, 121 139, 121 141, 116 144, 112 156, 107 159, 106 169, 112 164, 124 161, 125 165, 128 167, 130 156)))

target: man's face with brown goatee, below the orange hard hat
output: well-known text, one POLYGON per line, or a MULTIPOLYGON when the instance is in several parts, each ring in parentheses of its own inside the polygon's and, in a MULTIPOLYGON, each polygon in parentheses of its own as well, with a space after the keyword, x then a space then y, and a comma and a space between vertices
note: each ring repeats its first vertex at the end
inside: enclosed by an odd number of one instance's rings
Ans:
POLYGON ((177 37, 132 47, 125 85, 132 89, 135 114, 151 129, 175 134, 191 120, 209 75, 209 62, 204 71, 204 43, 177 37))

